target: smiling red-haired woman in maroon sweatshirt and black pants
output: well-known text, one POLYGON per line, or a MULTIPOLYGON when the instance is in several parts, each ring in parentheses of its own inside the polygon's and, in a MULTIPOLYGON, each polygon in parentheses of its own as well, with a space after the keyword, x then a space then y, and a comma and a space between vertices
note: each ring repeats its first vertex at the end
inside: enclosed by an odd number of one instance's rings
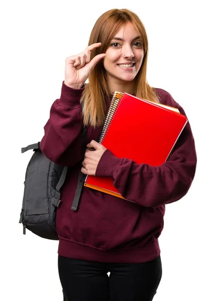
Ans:
POLYGON ((56 216, 60 281, 67 301, 149 301, 162 276, 158 237, 165 205, 185 196, 194 178, 194 139, 187 123, 168 160, 156 167, 117 158, 97 143, 113 91, 185 112, 167 91, 147 83, 148 40, 136 14, 105 12, 88 45, 65 61, 61 96, 41 141, 47 158, 69 167, 56 216), (80 169, 84 175, 113 177, 121 195, 133 202, 83 187, 77 211, 71 210, 80 169))

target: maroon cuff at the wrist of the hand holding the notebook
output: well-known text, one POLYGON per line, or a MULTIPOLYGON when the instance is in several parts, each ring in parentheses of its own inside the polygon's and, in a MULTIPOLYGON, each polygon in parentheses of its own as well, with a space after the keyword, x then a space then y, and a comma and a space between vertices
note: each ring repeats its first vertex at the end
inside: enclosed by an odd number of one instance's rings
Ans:
POLYGON ((123 159, 117 158, 110 152, 109 149, 106 149, 103 155, 101 156, 95 176, 96 177, 114 177, 118 167, 122 163, 123 159))

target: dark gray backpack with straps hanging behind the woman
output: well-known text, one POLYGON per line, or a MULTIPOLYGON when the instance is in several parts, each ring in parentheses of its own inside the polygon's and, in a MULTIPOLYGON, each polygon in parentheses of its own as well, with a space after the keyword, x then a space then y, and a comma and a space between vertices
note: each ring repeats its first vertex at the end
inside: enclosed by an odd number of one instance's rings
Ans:
MULTIPOLYGON (((86 145, 86 127, 83 127, 83 155, 86 145)), ((34 234, 58 240, 56 233, 56 210, 60 206, 61 188, 66 178, 67 167, 57 165, 41 152, 40 142, 22 148, 22 153, 33 149, 34 154, 27 166, 20 223, 23 234, 26 229, 34 234)), ((78 186, 71 209, 77 210, 84 175, 79 172, 78 186)))

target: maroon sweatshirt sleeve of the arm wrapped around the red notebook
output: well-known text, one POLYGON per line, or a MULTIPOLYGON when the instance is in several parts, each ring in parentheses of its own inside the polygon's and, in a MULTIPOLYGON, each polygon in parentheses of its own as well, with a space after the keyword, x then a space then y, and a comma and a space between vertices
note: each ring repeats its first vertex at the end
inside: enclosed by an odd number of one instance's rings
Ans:
MULTIPOLYGON (((182 107, 178 104, 177 107, 185 115, 182 107)), ((107 149, 98 163, 96 176, 113 177, 114 186, 125 199, 146 207, 158 207, 185 196, 195 170, 196 150, 187 122, 171 155, 162 165, 153 167, 119 159, 107 149)))

